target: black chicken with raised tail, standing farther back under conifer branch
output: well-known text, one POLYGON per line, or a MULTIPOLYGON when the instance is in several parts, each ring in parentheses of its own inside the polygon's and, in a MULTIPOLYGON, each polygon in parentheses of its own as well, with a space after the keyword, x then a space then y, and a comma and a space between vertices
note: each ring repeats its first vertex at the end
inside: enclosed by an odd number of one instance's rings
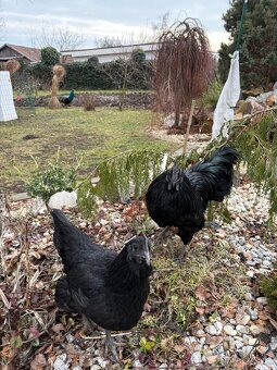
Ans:
POLYGON ((160 227, 176 226, 184 247, 204 226, 209 201, 223 201, 232 186, 237 150, 223 147, 204 161, 180 170, 174 165, 149 186, 146 202, 150 217, 160 227))

